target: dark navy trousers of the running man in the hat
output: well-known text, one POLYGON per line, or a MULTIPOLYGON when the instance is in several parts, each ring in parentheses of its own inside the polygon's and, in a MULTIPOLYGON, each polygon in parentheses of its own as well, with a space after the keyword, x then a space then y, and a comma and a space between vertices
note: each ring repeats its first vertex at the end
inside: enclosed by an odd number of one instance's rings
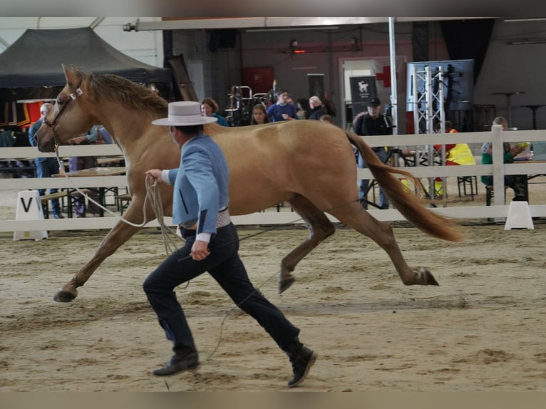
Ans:
POLYGON ((235 304, 258 321, 277 345, 283 351, 286 350, 298 336, 299 328, 292 325, 276 306, 252 286, 247 270, 237 254, 239 237, 235 226, 228 224, 217 229, 209 243, 209 256, 198 262, 190 257, 195 231, 182 229, 182 237, 186 240, 184 247, 167 257, 143 284, 160 326, 165 330, 167 338, 174 343, 174 348, 195 348, 190 326, 176 299, 175 286, 208 271, 235 304))

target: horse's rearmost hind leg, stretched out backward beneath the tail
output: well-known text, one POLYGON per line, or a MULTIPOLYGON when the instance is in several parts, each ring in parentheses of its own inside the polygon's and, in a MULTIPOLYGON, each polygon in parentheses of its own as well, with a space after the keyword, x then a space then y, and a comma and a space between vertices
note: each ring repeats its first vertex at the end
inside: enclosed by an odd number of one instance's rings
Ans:
POLYGON ((411 266, 408 266, 400 247, 398 247, 391 224, 380 222, 363 209, 359 203, 351 203, 344 207, 339 207, 332 214, 340 222, 348 224, 357 232, 370 237, 374 242, 379 244, 387 252, 388 257, 391 258, 403 284, 406 286, 414 284, 424 286, 438 285, 431 271, 426 267, 415 267, 412 269, 411 266))

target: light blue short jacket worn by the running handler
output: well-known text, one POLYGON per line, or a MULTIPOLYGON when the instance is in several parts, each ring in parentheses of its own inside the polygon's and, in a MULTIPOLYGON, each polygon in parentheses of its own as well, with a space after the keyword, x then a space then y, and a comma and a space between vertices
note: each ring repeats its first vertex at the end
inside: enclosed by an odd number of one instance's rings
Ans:
POLYGON ((215 233, 218 210, 227 207, 229 171, 220 147, 200 134, 182 145, 180 167, 163 170, 162 180, 174 185, 172 222, 197 221, 197 234, 215 233))

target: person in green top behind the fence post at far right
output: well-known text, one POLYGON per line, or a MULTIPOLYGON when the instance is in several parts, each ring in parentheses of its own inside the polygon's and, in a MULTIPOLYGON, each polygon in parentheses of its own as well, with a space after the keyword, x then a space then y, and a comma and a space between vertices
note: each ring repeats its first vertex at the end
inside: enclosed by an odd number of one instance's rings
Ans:
MULTIPOLYGON (((502 125, 503 131, 508 130, 508 120, 502 116, 498 116, 493 120, 493 125, 502 125)), ((504 163, 514 162, 514 157, 525 150, 525 147, 522 146, 512 146, 510 143, 505 142, 503 144, 504 163)), ((493 164, 493 143, 486 142, 482 145, 482 165, 492 165, 493 164)), ((493 176, 492 175, 482 175, 481 180, 486 186, 493 186, 493 176)), ((527 175, 505 175, 504 177, 505 186, 510 187, 514 190, 514 201, 525 201, 527 200, 527 175)))

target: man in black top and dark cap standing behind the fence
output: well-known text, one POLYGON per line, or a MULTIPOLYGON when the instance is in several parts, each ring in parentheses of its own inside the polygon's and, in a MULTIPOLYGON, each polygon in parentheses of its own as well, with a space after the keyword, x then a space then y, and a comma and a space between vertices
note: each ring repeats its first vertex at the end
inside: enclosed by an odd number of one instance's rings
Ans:
MULTIPOLYGON (((373 136, 373 135, 392 135, 393 128, 388 118, 381 114, 381 101, 379 98, 370 98, 367 105, 367 112, 356 115, 353 121, 353 130, 357 135, 373 136)), ((372 148, 376 155, 385 163, 388 160, 388 151, 386 147, 378 146, 372 148)), ((359 167, 368 167, 362 156, 358 155, 359 167)), ((369 180, 363 179, 360 181, 360 200, 362 207, 368 209, 368 186, 369 180)), ((383 190, 379 187, 379 208, 388 209, 388 198, 383 194, 383 190)))

